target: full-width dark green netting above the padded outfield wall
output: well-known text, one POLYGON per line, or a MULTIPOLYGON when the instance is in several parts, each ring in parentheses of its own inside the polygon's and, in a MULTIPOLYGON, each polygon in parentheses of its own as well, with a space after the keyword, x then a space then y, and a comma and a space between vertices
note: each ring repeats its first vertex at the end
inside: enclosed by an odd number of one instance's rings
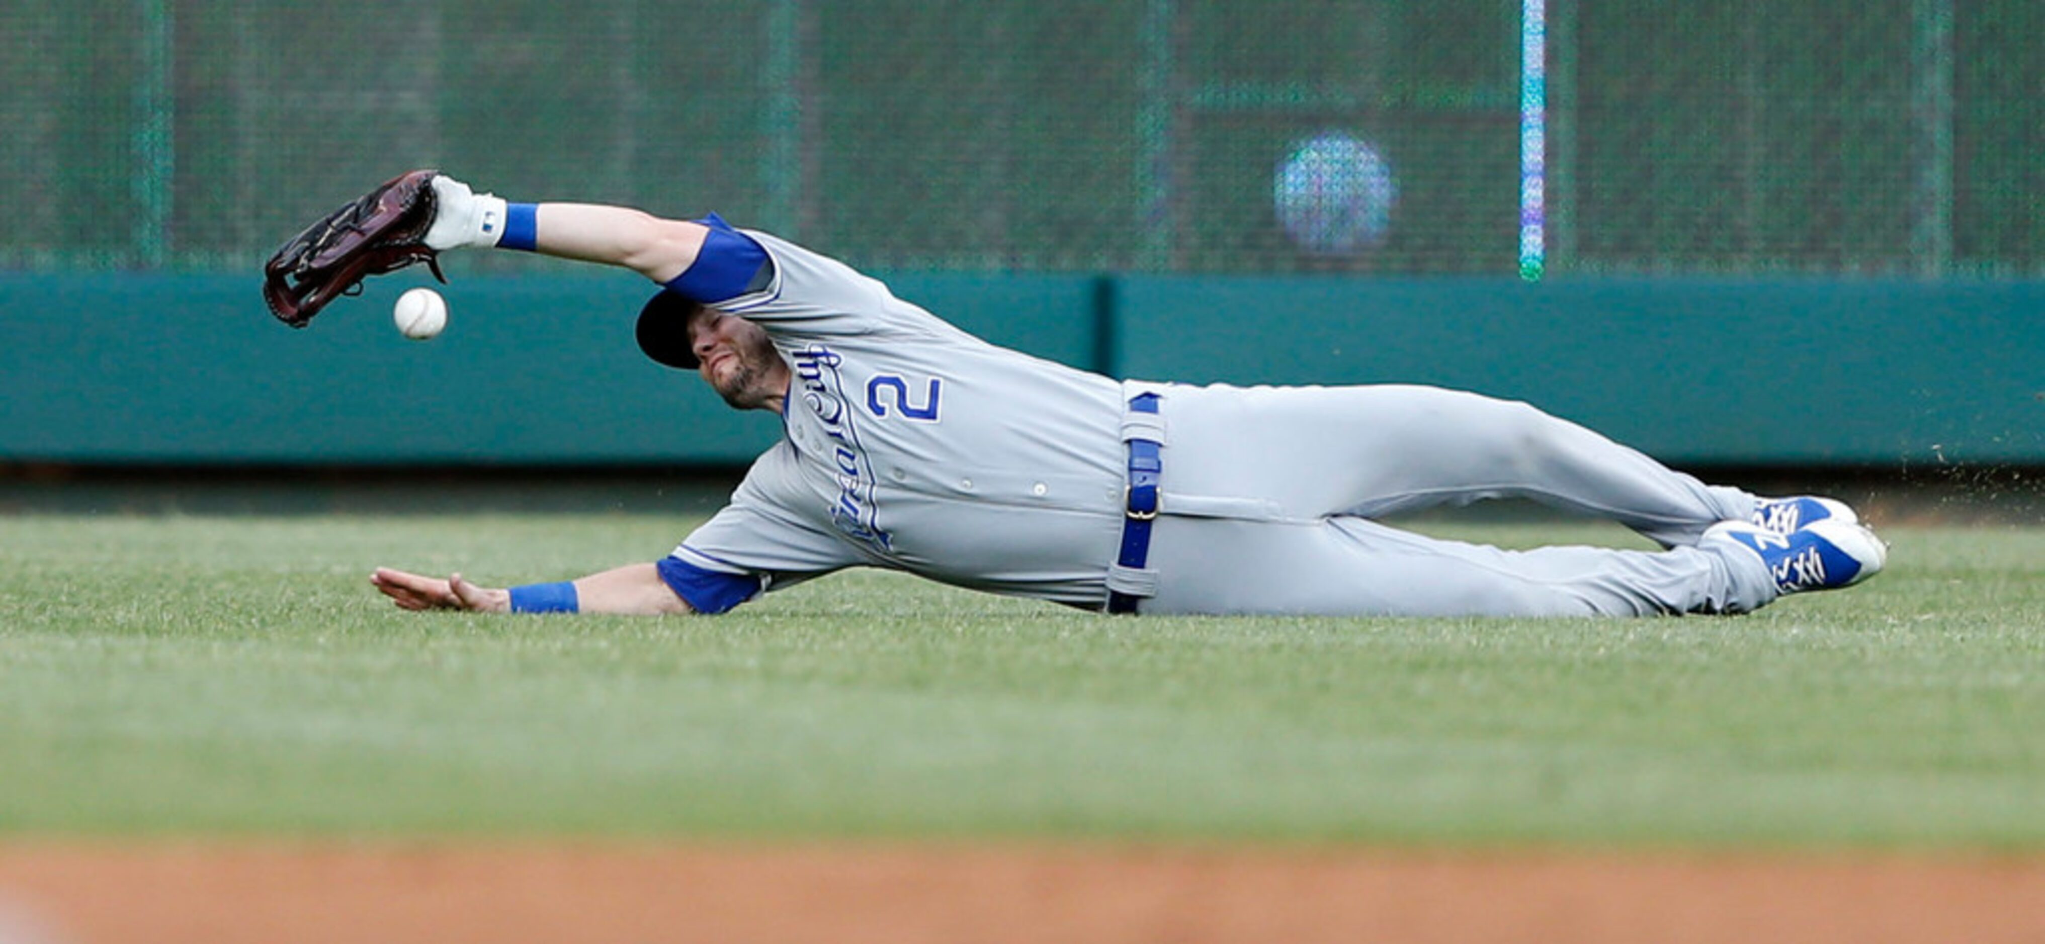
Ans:
MULTIPOLYGON (((2045 272, 2037 0, 1544 27, 1548 274, 2045 272)), ((245 270, 440 166, 892 270, 1519 270, 1517 2, 14 0, 0 37, 6 268, 245 270)))

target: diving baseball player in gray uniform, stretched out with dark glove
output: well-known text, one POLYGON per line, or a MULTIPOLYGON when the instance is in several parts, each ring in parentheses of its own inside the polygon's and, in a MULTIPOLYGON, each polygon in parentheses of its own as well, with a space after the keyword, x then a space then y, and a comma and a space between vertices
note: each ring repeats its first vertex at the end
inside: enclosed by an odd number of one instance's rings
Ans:
POLYGON ((280 319, 303 325, 362 274, 458 247, 622 266, 658 286, 638 321, 646 353, 783 429, 661 560, 511 588, 378 568, 403 609, 724 613, 877 566, 1108 613, 1640 617, 1744 613, 1885 560, 1838 501, 1710 486, 1521 403, 1110 380, 986 343, 716 215, 507 202, 434 172, 399 182, 280 249, 266 288, 280 319), (376 229, 401 217, 409 237, 376 229), (380 239, 384 257, 350 262, 333 249, 346 239, 380 239), (1509 552, 1376 521, 1491 497, 1605 517, 1665 550, 1509 552))

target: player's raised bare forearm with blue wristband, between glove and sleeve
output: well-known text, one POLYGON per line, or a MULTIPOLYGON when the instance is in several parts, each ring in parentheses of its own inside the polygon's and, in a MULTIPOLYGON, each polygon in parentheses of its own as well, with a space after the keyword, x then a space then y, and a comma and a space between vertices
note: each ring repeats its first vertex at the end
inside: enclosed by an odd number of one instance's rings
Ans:
POLYGON ((505 247, 562 259, 624 266, 667 284, 695 264, 710 233, 701 223, 661 219, 630 206, 587 202, 517 204, 476 194, 450 176, 434 178, 434 249, 505 247))

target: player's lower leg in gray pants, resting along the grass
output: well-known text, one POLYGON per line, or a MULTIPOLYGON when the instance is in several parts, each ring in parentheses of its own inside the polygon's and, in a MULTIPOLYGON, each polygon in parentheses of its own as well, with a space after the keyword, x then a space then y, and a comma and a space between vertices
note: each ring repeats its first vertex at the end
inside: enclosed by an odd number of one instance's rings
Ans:
POLYGON ((1160 593, 1143 613, 1636 617, 1744 613, 1781 593, 1765 560, 1730 539, 1507 552, 1356 517, 1166 517, 1151 560, 1160 593))

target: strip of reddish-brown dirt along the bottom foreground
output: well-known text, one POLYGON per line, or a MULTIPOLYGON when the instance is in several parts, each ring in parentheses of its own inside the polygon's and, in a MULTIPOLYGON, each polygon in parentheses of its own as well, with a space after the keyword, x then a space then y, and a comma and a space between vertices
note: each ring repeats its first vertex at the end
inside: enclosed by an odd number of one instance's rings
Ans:
POLYGON ((0 944, 2039 942, 2045 860, 1092 846, 0 846, 0 944))

